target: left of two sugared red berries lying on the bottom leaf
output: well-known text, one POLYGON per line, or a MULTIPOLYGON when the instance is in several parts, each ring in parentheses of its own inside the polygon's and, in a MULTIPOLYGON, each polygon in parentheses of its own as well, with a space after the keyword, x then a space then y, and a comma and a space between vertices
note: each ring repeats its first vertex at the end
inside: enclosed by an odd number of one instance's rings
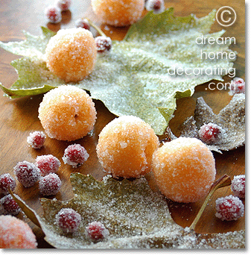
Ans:
POLYGON ((66 233, 77 231, 81 216, 72 208, 63 208, 56 215, 56 224, 66 233))

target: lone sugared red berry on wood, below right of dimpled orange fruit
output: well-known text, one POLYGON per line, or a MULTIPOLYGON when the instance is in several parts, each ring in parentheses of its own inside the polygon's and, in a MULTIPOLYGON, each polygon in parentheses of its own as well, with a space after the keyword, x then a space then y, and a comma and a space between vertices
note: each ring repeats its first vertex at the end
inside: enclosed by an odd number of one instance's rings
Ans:
POLYGON ((89 154, 86 152, 86 149, 80 144, 73 144, 66 148, 63 154, 63 162, 68 163, 74 168, 82 165, 89 157, 89 154))

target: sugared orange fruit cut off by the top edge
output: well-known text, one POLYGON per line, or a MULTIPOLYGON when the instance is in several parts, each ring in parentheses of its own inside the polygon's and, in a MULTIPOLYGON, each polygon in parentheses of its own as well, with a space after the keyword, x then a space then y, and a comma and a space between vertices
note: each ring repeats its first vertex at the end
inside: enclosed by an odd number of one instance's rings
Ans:
POLYGON ((103 22, 121 27, 141 18, 144 0, 92 0, 92 9, 103 22))

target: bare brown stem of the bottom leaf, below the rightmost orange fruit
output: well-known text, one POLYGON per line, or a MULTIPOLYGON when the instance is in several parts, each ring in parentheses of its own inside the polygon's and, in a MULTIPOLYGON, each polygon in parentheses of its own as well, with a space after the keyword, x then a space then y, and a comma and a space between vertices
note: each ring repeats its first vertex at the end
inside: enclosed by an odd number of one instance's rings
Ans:
POLYGON ((203 211, 205 210, 206 205, 208 204, 209 199, 211 199, 213 193, 215 193, 215 191, 218 188, 226 187, 226 186, 229 186, 229 185, 231 185, 231 178, 226 174, 223 175, 221 178, 217 179, 217 181, 215 181, 212 184, 212 186, 209 190, 209 193, 206 196, 205 201, 203 202, 203 205, 200 207, 200 210, 198 211, 197 216, 194 218, 194 221, 191 223, 191 225, 189 227, 191 230, 194 230, 195 226, 197 225, 197 222, 199 221, 200 216, 202 215, 203 211))

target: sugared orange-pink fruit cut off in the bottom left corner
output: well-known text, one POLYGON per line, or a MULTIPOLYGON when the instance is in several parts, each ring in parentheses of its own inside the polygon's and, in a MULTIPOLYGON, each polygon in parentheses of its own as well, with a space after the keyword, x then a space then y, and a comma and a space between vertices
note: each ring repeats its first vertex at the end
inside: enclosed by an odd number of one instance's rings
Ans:
POLYGON ((0 216, 1 249, 36 249, 36 237, 21 219, 14 216, 0 216))

